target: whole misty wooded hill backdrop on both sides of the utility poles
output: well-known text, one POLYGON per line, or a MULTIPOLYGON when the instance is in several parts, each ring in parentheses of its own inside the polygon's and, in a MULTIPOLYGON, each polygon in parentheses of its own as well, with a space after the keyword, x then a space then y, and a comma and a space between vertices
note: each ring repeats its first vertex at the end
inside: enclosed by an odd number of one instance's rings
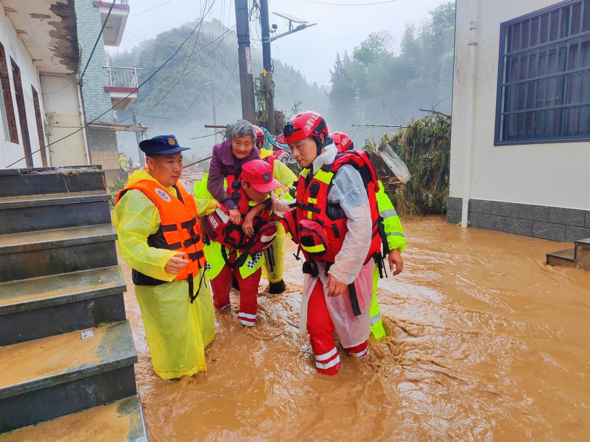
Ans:
MULTIPOLYGON (((330 130, 346 131, 355 143, 362 144, 372 134, 395 131, 386 127, 351 127, 351 124, 404 125, 411 118, 424 116, 419 109, 451 111, 453 88, 454 2, 430 12, 419 27, 407 24, 401 42, 392 40, 386 30, 375 29, 348 54, 338 48, 333 53, 329 89, 309 84, 306 78, 280 60, 274 62, 275 107, 290 117, 294 108, 315 110, 329 123, 330 130), (295 104, 299 105, 295 105, 295 104)), ((112 55, 111 64, 145 68, 145 80, 166 61, 192 31, 195 22, 161 32, 142 42, 131 52, 112 55)), ((234 27, 235 28, 235 27, 234 27)), ((203 22, 182 50, 140 88, 131 111, 120 112, 119 121, 137 121, 152 126, 150 133, 175 133, 179 139, 202 147, 204 156, 213 144, 207 137, 212 124, 211 85, 215 83, 217 123, 227 124, 241 117, 240 75, 237 37, 217 19, 203 22)), ((260 48, 252 42, 255 77, 262 70, 260 48)), ((129 144, 135 144, 129 140, 129 144)), ((197 156, 201 156, 197 154, 197 156)))

